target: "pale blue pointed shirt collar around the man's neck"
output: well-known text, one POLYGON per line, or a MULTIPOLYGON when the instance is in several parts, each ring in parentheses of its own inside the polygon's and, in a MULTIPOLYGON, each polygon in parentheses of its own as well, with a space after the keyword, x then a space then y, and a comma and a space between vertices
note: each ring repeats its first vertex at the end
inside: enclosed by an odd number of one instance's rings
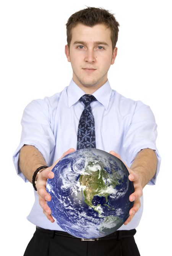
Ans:
MULTIPOLYGON (((71 82, 67 88, 68 95, 68 107, 75 104, 85 92, 71 79, 71 82)), ((97 89, 92 95, 99 101, 107 110, 109 106, 110 96, 112 94, 112 89, 110 87, 109 81, 103 84, 99 89, 97 89)))

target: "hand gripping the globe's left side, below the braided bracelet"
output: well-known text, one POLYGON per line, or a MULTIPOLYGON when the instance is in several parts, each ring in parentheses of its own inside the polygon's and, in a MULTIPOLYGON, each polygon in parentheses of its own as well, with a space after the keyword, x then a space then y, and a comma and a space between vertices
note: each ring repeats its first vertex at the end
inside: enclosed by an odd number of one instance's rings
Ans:
MULTIPOLYGON (((64 157, 67 154, 70 154, 71 152, 74 152, 74 151, 75 151, 75 149, 73 149, 73 148, 68 149, 62 155, 62 157, 64 157)), ((51 196, 46 191, 46 182, 47 182, 47 178, 50 178, 50 179, 54 178, 54 173, 51 172, 51 170, 60 161, 60 159, 62 159, 62 157, 60 157, 52 166, 50 166, 50 167, 46 168, 45 170, 43 170, 42 172, 40 172, 39 175, 37 176, 36 188, 37 188, 37 194, 39 196, 39 204, 41 205, 41 207, 43 209, 43 213, 47 216, 47 218, 51 222, 54 222, 54 219, 51 215, 51 209, 47 205, 47 201, 51 201, 51 196)))

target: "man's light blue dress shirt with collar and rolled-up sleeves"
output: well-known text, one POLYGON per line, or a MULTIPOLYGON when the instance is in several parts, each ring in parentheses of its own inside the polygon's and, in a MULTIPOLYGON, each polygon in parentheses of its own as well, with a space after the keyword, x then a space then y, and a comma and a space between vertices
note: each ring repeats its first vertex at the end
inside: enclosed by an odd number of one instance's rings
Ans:
MULTIPOLYGON (((78 100, 84 94, 85 92, 71 80, 70 85, 62 92, 34 100, 26 106, 21 121, 21 142, 13 155, 16 171, 25 182, 28 180, 18 167, 19 151, 24 144, 34 145, 49 166, 71 147, 76 149, 78 123, 84 109, 83 102, 78 100)), ((96 126, 96 148, 106 152, 114 150, 120 154, 128 167, 141 149, 156 150, 157 171, 149 182, 150 185, 155 184, 161 157, 156 149, 157 125, 150 107, 141 101, 123 97, 110 88, 109 81, 93 95, 97 99, 91 103, 96 126)), ((34 195, 35 202, 28 220, 41 228, 62 230, 56 222, 51 223, 44 215, 35 190, 34 195)), ((119 230, 136 228, 142 212, 143 197, 141 207, 134 218, 119 230)))

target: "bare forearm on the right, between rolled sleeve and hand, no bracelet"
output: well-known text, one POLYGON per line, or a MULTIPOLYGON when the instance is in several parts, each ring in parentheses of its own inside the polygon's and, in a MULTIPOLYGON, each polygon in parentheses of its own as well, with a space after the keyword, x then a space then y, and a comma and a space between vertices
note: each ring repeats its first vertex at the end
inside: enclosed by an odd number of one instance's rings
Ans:
POLYGON ((131 165, 131 170, 137 173, 141 178, 142 188, 154 177, 157 167, 157 157, 156 153, 152 149, 141 150, 133 164, 131 165))

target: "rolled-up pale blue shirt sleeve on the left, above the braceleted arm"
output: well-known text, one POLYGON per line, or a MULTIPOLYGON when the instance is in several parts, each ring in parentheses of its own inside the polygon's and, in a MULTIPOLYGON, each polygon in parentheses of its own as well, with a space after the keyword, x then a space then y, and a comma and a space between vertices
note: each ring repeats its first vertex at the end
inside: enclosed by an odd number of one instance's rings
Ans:
POLYGON ((24 144, 35 146, 43 155, 45 162, 49 164, 50 153, 55 147, 55 137, 49 118, 49 105, 45 99, 34 100, 24 109, 21 119, 21 141, 13 155, 13 162, 17 174, 25 182, 28 182, 28 180, 24 177, 18 164, 20 149, 24 144))

